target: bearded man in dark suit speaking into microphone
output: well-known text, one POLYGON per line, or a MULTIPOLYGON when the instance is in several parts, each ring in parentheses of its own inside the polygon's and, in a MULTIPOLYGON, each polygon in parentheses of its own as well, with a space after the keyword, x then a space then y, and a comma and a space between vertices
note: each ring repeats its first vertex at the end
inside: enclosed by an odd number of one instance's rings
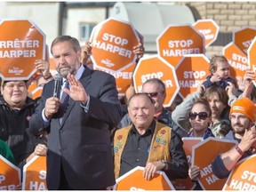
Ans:
POLYGON ((115 78, 84 67, 74 37, 58 36, 51 52, 62 76, 60 98, 68 93, 70 99, 68 108, 62 107, 61 99, 52 97, 54 81, 45 84, 29 122, 34 134, 49 132, 47 187, 105 189, 115 184, 109 130, 121 119, 115 78))

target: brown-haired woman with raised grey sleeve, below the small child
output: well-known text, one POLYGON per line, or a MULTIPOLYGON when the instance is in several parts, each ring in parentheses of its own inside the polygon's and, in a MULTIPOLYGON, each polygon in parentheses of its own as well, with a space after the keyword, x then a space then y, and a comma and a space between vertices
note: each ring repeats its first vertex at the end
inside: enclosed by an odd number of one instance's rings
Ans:
POLYGON ((187 96, 179 106, 172 111, 172 119, 182 129, 189 130, 188 113, 195 100, 204 98, 208 101, 212 111, 212 124, 209 127, 216 138, 223 138, 231 130, 228 113, 228 94, 218 85, 212 85, 205 90, 203 84, 199 84, 196 92, 187 96))

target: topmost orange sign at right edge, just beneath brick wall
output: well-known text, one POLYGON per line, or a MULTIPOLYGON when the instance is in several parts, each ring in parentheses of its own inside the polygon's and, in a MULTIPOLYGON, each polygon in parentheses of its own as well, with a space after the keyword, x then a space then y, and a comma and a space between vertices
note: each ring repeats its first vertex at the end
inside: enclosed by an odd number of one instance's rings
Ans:
POLYGON ((252 40, 256 36, 256 29, 242 28, 233 32, 233 42, 245 54, 249 48, 252 40))

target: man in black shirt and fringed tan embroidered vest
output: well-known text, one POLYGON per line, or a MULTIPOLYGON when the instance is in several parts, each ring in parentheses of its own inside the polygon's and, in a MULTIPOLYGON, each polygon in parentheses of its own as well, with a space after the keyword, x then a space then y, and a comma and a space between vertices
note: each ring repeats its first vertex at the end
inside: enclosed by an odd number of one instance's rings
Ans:
POLYGON ((128 100, 132 125, 116 131, 114 137, 116 179, 136 166, 143 166, 145 180, 164 171, 170 180, 188 176, 188 161, 182 140, 172 128, 154 120, 155 101, 148 93, 135 93, 128 100))

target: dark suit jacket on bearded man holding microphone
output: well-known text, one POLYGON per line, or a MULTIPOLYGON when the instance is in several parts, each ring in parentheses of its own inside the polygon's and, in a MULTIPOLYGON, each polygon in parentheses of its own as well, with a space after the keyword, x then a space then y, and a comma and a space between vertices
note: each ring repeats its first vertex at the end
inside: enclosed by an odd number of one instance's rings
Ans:
MULTIPOLYGON (((110 132, 121 119, 114 76, 85 68, 80 79, 90 95, 87 113, 80 102, 70 98, 62 124, 52 116, 48 129, 47 186, 58 189, 60 164, 74 189, 99 189, 116 183, 110 132)), ((30 132, 42 132, 42 110, 45 100, 52 97, 54 81, 45 84, 42 100, 29 122, 30 132)))

